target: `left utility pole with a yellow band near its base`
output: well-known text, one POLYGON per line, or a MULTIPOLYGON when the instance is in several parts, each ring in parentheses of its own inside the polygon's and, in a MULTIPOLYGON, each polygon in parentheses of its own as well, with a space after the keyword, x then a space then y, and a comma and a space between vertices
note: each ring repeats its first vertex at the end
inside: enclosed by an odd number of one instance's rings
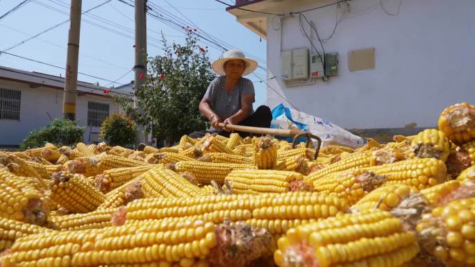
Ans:
POLYGON ((71 0, 69 11, 69 34, 67 37, 67 59, 63 117, 76 120, 76 89, 78 86, 79 36, 81 31, 82 0, 71 0))

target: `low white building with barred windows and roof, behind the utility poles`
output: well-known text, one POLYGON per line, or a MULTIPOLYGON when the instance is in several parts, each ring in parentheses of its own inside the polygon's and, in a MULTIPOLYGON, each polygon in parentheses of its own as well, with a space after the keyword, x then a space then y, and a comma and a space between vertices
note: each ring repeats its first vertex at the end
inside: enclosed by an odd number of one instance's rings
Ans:
MULTIPOLYGON (((63 118, 64 78, 0 67, 0 146, 18 146, 32 130, 63 118)), ((98 141, 103 119, 123 112, 111 94, 131 96, 133 92, 78 81, 76 121, 85 127, 83 141, 98 141)))

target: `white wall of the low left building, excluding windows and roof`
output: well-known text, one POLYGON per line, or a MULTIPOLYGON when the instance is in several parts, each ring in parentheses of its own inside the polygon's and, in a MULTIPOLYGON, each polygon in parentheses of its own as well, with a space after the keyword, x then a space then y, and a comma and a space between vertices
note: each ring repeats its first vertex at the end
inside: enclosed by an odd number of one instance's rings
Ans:
MULTIPOLYGON (((63 91, 49 87, 30 88, 24 83, 0 80, 0 87, 6 89, 19 89, 22 91, 20 105, 20 120, 0 119, 0 145, 18 145, 32 130, 47 126, 51 119, 63 117, 63 91), (49 114, 49 116, 48 116, 49 114)), ((76 98, 76 120, 79 126, 85 126, 83 140, 86 143, 96 141, 97 135, 89 133, 99 132, 99 128, 90 128, 88 124, 88 101, 110 104, 109 114, 122 112, 122 109, 113 102, 113 99, 85 94, 76 98)))

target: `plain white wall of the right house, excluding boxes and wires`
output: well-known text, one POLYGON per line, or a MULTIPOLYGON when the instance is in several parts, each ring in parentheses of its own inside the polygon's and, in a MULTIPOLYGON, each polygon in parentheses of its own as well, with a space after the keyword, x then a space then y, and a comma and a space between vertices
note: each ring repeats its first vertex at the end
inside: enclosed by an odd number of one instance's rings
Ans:
MULTIPOLYGON (((308 5, 279 6, 274 12, 292 12, 323 6, 334 1, 313 1, 308 5)), ((404 1, 399 15, 390 16, 379 0, 349 1, 350 12, 324 44, 328 52, 339 53, 339 75, 325 83, 285 87, 281 81, 282 51, 307 47, 310 43, 299 28, 299 17, 268 18, 268 84, 297 105, 299 110, 332 121, 344 128, 399 128, 415 122, 418 127, 437 125, 440 112, 453 103, 475 102, 475 1, 404 1), (376 69, 348 69, 347 53, 374 47, 376 69)), ((383 1, 396 12, 399 0, 383 1)), ((278 3, 274 3, 277 6, 278 3)), ((343 4, 342 4, 343 5, 343 4)), ((322 38, 335 26, 335 6, 304 13, 322 38)), ((342 8, 339 10, 342 15, 342 8)), ((305 24, 304 24, 305 25, 305 24)), ((310 28, 306 25, 306 31, 310 28)), ((319 42, 313 34, 313 42, 319 42)), ((320 50, 321 51, 321 50, 320 50)), ((267 89, 267 104, 286 103, 267 89)))

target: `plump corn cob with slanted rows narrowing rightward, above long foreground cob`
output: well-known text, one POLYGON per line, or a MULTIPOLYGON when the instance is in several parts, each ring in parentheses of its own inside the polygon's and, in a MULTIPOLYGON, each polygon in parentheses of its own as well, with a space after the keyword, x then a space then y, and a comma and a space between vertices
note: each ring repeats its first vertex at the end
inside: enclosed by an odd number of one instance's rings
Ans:
POLYGON ((146 198, 189 198, 203 195, 203 191, 172 170, 158 166, 142 175, 142 192, 146 198))

